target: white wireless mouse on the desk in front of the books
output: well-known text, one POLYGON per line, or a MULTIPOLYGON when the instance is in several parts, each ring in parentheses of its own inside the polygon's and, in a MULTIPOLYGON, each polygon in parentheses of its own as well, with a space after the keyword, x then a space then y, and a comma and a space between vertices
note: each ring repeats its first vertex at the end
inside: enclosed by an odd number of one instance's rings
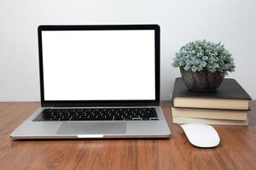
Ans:
POLYGON ((217 131, 207 124, 189 123, 181 125, 189 142, 197 147, 210 148, 219 144, 217 131))

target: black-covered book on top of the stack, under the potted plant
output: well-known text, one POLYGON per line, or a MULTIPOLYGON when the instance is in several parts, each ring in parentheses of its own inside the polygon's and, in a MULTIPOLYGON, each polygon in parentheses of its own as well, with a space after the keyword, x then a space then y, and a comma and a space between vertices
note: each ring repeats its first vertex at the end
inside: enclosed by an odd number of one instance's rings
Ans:
POLYGON ((183 79, 175 81, 172 101, 174 107, 226 110, 249 110, 251 97, 235 79, 226 78, 216 92, 198 93, 189 91, 183 79))

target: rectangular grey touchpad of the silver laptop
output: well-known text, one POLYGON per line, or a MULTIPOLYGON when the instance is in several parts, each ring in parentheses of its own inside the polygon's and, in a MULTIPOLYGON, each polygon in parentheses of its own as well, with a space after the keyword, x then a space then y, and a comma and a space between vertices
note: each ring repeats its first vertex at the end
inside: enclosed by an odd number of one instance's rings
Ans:
POLYGON ((57 134, 123 134, 126 122, 63 122, 57 134))

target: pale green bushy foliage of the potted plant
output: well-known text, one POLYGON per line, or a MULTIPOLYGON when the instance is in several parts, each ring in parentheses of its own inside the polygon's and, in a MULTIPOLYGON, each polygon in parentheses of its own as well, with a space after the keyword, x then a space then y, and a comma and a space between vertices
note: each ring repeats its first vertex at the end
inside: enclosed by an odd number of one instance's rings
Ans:
POLYGON ((219 71, 227 74, 235 71, 232 54, 224 45, 207 40, 189 42, 180 48, 173 59, 172 66, 182 67, 185 71, 219 71))

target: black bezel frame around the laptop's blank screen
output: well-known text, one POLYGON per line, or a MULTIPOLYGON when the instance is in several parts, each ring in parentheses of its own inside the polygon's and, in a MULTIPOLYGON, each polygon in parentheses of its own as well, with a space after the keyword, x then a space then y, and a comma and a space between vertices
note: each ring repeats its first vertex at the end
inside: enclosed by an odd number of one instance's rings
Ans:
POLYGON ((98 26, 38 26, 39 74, 42 107, 93 107, 160 105, 160 26, 158 25, 98 25, 98 26), (155 99, 141 100, 45 100, 42 31, 90 30, 154 30, 155 99))

